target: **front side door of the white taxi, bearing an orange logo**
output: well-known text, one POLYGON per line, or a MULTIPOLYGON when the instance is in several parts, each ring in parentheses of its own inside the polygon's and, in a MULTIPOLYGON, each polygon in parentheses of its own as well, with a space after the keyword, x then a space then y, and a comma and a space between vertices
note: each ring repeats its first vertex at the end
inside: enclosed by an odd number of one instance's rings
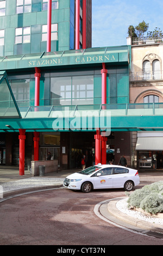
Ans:
POLYGON ((112 167, 103 168, 99 170, 99 172, 93 174, 93 186, 95 189, 112 187, 112 170, 112 167))

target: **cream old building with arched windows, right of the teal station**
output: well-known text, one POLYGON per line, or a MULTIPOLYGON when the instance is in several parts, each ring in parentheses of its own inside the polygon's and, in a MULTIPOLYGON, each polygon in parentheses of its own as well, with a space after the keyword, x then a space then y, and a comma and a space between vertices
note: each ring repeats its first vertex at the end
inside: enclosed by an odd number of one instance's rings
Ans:
MULTIPOLYGON (((131 45, 130 103, 145 104, 157 114, 162 108, 162 38, 133 39, 131 45)), ((163 167, 162 129, 131 133, 131 161, 141 169, 163 167)))

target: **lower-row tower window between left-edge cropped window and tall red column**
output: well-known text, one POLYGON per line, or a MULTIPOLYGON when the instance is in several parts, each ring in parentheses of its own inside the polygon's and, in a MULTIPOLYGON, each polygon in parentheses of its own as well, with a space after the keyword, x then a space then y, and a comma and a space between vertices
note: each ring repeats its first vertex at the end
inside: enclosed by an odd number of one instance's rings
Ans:
POLYGON ((30 27, 15 28, 15 44, 30 42, 30 27))

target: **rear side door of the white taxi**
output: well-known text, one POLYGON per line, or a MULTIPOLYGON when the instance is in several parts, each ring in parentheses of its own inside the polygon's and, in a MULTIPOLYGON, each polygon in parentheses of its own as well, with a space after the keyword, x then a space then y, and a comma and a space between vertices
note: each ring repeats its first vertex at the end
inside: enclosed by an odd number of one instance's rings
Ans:
POLYGON ((115 167, 114 175, 112 175, 113 187, 123 187, 124 183, 128 180, 129 170, 123 167, 115 167))

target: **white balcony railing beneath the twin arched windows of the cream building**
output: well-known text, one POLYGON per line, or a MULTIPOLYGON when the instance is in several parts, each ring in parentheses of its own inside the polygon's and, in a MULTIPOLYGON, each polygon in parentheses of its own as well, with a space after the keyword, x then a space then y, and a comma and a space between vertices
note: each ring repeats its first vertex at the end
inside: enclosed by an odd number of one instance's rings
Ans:
POLYGON ((133 72, 130 74, 130 81, 141 81, 141 80, 160 80, 162 79, 163 71, 153 72, 133 72))

